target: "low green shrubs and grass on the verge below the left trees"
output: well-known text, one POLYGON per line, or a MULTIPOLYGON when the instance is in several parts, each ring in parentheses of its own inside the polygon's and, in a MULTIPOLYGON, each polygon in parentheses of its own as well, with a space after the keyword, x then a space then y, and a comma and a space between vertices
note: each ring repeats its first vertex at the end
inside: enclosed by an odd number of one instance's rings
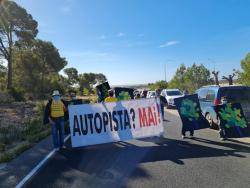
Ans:
POLYGON ((0 163, 14 159, 50 134, 50 126, 42 122, 44 108, 44 103, 38 103, 37 117, 22 126, 0 126, 0 163))

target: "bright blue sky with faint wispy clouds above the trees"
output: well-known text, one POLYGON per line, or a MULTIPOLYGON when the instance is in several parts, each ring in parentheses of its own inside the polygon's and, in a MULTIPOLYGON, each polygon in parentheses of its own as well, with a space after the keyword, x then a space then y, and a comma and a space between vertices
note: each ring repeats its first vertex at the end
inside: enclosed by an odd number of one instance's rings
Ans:
POLYGON ((17 0, 68 67, 112 85, 170 80, 181 63, 221 75, 250 52, 247 0, 17 0))

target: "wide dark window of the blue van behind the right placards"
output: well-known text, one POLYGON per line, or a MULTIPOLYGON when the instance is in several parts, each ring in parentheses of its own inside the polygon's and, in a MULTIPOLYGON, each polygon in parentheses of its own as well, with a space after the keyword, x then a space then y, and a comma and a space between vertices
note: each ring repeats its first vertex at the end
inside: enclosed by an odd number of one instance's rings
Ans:
POLYGON ((220 97, 224 96, 229 102, 250 102, 250 88, 225 88, 220 92, 220 97))

